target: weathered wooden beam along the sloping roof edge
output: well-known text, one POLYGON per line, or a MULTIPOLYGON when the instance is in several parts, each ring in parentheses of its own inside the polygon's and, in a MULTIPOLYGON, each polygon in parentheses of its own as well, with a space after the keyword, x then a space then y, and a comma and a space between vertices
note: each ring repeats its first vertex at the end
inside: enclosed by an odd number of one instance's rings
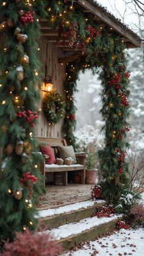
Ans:
POLYGON ((109 16, 107 13, 104 12, 101 7, 98 5, 95 5, 92 0, 77 0, 77 3, 81 5, 86 10, 89 10, 93 15, 98 16, 104 23, 112 27, 115 31, 118 32, 118 34, 122 35, 123 37, 126 37, 129 42, 133 43, 135 47, 140 47, 140 38, 137 38, 135 35, 132 35, 130 31, 126 27, 123 26, 123 24, 118 23, 117 19, 114 17, 109 16))

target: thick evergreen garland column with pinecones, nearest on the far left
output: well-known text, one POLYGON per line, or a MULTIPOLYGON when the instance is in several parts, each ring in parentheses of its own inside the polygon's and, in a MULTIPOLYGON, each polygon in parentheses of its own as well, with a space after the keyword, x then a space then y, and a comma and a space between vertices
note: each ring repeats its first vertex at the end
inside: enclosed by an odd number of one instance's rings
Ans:
POLYGON ((41 187, 41 157, 34 139, 41 10, 45 11, 43 1, 1 1, 0 6, 0 31, 6 38, 0 56, 0 240, 11 241, 16 231, 35 229, 37 224, 32 190, 35 194, 41 187))

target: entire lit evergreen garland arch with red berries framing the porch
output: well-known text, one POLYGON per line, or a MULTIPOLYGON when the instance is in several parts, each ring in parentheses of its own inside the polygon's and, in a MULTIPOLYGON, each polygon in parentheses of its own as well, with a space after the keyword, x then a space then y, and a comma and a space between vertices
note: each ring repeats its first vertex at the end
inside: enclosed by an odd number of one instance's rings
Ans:
MULTIPOLYGON (((27 227, 34 229, 36 224, 29 183, 37 181, 38 172, 35 169, 40 161, 38 155, 32 154, 37 147, 33 137, 35 116, 38 114, 35 100, 40 98, 38 90, 35 90, 35 82, 40 85, 37 51, 40 18, 46 18, 51 27, 59 28, 59 38, 63 38, 63 43, 68 39, 70 48, 81 46, 82 49, 82 57, 66 67, 67 114, 63 132, 67 141, 74 145, 76 108, 73 94, 76 92, 79 71, 91 68, 95 73, 100 68, 99 78, 103 86, 101 113, 105 122, 105 147, 99 152, 105 177, 103 191, 112 201, 117 200, 123 189, 128 188, 128 165, 124 159, 124 150, 128 146, 125 136, 129 131, 126 122, 129 116, 126 46, 123 38, 110 27, 96 24, 87 13, 74 10, 71 6, 67 0, 1 1, 0 32, 7 36, 0 58, 0 147, 4 148, 0 170, 1 239, 12 240, 15 231, 27 227), (22 118, 26 122, 22 122, 22 118), (21 198, 15 197, 16 192, 21 194, 21 198), (14 212, 10 205, 15 208, 14 212)), ((37 189, 35 184, 34 188, 37 189)))

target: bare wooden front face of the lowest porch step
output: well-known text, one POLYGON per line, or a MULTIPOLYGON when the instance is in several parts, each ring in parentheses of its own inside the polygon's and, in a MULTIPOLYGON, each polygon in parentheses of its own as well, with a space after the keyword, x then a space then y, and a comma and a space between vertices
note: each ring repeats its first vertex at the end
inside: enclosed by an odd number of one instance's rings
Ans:
POLYGON ((70 250, 81 242, 91 241, 95 238, 99 238, 101 235, 105 235, 107 232, 112 232, 117 227, 117 222, 121 221, 121 219, 123 218, 113 219, 112 221, 85 230, 77 235, 68 236, 67 238, 57 241, 57 244, 62 244, 63 251, 70 250))

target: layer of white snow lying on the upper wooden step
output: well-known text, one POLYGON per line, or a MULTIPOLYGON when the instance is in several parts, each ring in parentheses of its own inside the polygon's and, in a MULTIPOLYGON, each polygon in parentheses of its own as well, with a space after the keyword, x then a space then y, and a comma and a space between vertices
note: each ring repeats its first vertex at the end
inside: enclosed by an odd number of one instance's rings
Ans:
POLYGON ((59 208, 54 208, 54 209, 48 209, 48 210, 42 210, 38 211, 38 218, 45 218, 48 216, 53 216, 57 214, 62 214, 62 213, 70 213, 70 211, 76 211, 81 208, 87 208, 87 207, 92 207, 95 203, 104 203, 104 200, 87 200, 84 202, 77 202, 73 203, 71 205, 65 205, 63 207, 59 208))

